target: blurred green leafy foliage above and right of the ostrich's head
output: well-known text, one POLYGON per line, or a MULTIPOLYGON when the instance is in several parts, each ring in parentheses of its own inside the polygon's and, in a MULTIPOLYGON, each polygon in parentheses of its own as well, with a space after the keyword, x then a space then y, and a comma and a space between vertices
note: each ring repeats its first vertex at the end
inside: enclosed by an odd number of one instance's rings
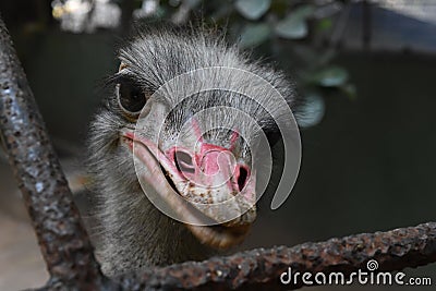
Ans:
POLYGON ((279 63, 292 73, 305 100, 300 123, 311 126, 320 121, 327 96, 356 97, 348 71, 334 63, 335 46, 328 41, 346 4, 338 0, 169 0, 160 1, 152 16, 226 27, 230 41, 279 63))

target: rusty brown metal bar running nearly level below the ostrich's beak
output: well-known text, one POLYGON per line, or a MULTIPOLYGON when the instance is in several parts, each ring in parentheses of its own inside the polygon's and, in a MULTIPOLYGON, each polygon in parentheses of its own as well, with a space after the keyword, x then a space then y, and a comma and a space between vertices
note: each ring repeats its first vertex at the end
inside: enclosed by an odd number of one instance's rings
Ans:
POLYGON ((291 267, 299 272, 349 275, 366 270, 376 259, 378 270, 393 271, 436 262, 436 223, 387 232, 362 233, 294 247, 253 250, 202 263, 184 263, 119 278, 123 290, 294 290, 303 286, 280 283, 291 267))

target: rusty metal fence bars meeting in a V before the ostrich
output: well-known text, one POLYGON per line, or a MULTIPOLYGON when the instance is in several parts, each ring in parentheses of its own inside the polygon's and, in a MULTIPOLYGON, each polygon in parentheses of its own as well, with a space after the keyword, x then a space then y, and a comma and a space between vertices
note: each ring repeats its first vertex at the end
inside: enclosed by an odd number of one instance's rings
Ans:
POLYGON ((0 129, 50 279, 40 290, 293 290, 293 270, 349 275, 376 259, 395 271, 436 262, 436 223, 362 233, 293 247, 258 248, 205 262, 106 277, 96 260, 72 193, 24 71, 0 19, 0 129))

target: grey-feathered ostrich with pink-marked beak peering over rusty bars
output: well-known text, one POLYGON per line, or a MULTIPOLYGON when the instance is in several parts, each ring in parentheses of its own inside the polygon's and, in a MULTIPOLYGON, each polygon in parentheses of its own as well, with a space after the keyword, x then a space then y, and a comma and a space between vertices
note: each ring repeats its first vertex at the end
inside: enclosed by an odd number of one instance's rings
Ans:
MULTIPOLYGON (((173 100, 155 93, 166 82, 203 68, 233 68, 256 74, 277 88, 290 107, 295 100, 293 86, 280 72, 250 61, 246 53, 228 45, 218 33, 204 29, 143 29, 119 50, 118 57, 119 71, 109 77, 108 96, 90 124, 88 138, 92 192, 97 193, 93 196, 97 201, 97 222, 89 232, 102 271, 113 276, 148 266, 199 260, 239 244, 256 217, 255 182, 251 182, 255 181, 256 169, 247 145, 249 140, 255 141, 255 134, 238 114, 220 116, 215 110, 216 117, 193 117, 217 106, 235 108, 255 119, 268 138, 277 140, 276 123, 259 106, 270 96, 259 92, 250 99, 226 90, 198 92, 168 112, 165 105, 173 100), (144 124, 135 132, 140 112, 144 124), (166 118, 160 119, 161 114, 166 118), (214 125, 222 120, 227 120, 226 126, 202 132, 203 123, 214 125), (149 133, 159 126, 158 142, 150 142, 149 133), (183 131, 183 138, 177 140, 183 131), (198 150, 192 141, 196 145, 199 142, 198 150), (219 182, 214 175, 203 181, 203 187, 193 185, 199 179, 198 171, 208 174, 217 168, 230 169, 227 174, 232 182, 214 190, 219 182), (141 169, 150 174, 145 182, 138 179, 141 169), (167 193, 167 206, 179 209, 182 217, 203 216, 217 223, 195 226, 165 215, 145 195, 147 187, 157 195, 167 193), (209 211, 209 204, 245 189, 247 195, 209 211), (171 201, 171 195, 189 203, 171 201), (203 207, 190 207, 193 203, 202 203, 203 207), (233 215, 230 221, 221 219, 226 211, 233 215)), ((216 70, 199 83, 227 78, 216 70)), ((247 85, 244 80, 232 81, 247 85)))

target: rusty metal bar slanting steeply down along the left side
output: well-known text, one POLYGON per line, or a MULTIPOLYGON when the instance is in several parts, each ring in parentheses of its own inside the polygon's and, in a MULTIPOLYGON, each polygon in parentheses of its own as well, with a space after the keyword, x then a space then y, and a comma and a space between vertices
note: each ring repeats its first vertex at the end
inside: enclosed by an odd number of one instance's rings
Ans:
POLYGON ((0 130, 50 283, 99 282, 104 277, 1 17, 0 130))

